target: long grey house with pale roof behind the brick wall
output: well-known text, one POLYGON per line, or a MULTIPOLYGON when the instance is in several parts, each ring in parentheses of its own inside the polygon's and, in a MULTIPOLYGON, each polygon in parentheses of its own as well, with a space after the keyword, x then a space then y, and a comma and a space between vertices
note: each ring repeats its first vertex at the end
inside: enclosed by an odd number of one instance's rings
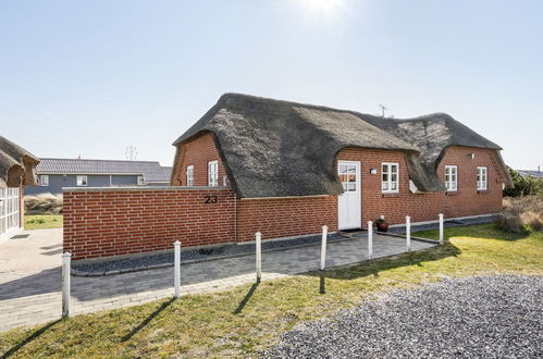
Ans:
POLYGON ((156 161, 44 158, 37 166, 39 186, 26 194, 60 194, 63 187, 168 186, 171 168, 156 161))

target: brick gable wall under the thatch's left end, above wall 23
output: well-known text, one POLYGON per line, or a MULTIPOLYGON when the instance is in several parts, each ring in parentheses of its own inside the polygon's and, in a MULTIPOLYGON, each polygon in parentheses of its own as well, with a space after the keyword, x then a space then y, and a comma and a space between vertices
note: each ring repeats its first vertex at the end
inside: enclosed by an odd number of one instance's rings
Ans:
POLYGON ((187 185, 187 165, 194 165, 194 185, 207 186, 208 162, 210 161, 219 161, 219 186, 223 186, 223 178, 226 173, 217 150, 213 136, 212 133, 206 133, 177 147, 173 186, 187 185))

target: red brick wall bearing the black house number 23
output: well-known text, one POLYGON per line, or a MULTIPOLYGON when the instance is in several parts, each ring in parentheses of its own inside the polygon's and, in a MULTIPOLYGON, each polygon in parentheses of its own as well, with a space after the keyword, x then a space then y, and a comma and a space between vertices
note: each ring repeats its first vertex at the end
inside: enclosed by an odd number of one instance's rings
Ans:
POLYGON ((77 260, 234 242, 234 202, 227 188, 64 191, 64 251, 77 260))

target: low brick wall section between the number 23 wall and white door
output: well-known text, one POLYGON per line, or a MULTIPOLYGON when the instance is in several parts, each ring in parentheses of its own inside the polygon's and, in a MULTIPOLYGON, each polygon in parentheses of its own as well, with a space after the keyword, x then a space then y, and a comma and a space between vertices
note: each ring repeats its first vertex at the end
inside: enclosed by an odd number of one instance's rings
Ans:
POLYGON ((237 239, 281 238, 337 231, 337 196, 243 199, 237 201, 237 239))

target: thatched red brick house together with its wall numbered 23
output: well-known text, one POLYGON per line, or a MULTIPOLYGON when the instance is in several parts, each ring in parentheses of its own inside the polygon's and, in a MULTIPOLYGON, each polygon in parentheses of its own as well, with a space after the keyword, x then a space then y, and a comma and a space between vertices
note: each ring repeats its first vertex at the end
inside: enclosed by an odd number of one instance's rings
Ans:
POLYGON ((175 143, 169 187, 63 189, 74 260, 491 214, 501 148, 446 114, 391 120, 222 96, 175 143))

